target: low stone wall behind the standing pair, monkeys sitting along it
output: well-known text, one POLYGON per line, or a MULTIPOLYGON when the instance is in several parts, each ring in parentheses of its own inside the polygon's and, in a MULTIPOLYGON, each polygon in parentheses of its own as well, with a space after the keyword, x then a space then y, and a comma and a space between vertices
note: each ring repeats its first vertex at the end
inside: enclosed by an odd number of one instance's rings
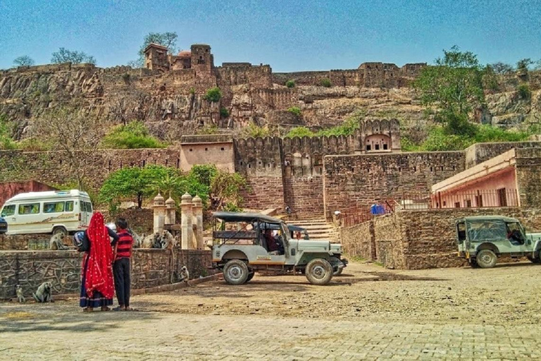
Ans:
MULTIPOLYGON (((77 251, 1 251, 0 299, 15 297, 15 285, 23 288, 25 298, 45 281, 53 283, 55 294, 78 293, 82 253, 77 251)), ((134 250, 132 288, 163 286, 179 281, 180 267, 189 269, 192 279, 215 273, 211 252, 207 250, 134 250)))

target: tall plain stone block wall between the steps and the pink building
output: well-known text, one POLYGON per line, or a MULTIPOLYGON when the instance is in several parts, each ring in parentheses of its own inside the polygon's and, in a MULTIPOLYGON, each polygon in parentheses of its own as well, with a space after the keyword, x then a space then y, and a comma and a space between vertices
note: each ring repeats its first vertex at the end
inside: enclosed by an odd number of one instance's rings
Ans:
POLYGON ((464 152, 331 155, 324 159, 325 216, 374 200, 429 197, 430 187, 464 171, 464 152))

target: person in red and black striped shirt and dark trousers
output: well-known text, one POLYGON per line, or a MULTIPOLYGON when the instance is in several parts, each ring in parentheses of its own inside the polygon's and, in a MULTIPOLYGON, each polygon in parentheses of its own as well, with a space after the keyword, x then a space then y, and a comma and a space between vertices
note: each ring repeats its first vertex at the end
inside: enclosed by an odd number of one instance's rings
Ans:
POLYGON ((128 222, 119 218, 116 221, 118 242, 113 241, 115 257, 113 263, 113 274, 115 276, 116 298, 118 307, 113 311, 129 311, 130 309, 130 268, 132 257, 133 237, 128 232, 128 222))

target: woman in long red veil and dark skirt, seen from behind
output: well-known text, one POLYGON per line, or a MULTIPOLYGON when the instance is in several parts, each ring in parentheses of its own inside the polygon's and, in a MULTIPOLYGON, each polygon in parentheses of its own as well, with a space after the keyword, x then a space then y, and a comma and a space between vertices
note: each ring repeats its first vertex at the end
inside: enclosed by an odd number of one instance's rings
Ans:
POLYGON ((82 282, 79 305, 85 307, 83 311, 89 312, 94 307, 101 307, 102 311, 110 310, 113 305, 113 248, 109 236, 118 235, 109 230, 104 224, 104 216, 96 212, 90 219, 85 237, 89 243, 89 250, 82 259, 82 282))

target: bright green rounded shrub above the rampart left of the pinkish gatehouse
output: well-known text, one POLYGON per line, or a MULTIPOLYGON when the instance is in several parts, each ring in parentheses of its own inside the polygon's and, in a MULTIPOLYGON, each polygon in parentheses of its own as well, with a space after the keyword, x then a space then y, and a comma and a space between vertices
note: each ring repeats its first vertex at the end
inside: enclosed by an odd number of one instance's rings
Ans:
POLYGON ((117 126, 106 135, 101 145, 113 149, 163 148, 162 142, 152 135, 144 123, 132 121, 125 126, 117 126))

